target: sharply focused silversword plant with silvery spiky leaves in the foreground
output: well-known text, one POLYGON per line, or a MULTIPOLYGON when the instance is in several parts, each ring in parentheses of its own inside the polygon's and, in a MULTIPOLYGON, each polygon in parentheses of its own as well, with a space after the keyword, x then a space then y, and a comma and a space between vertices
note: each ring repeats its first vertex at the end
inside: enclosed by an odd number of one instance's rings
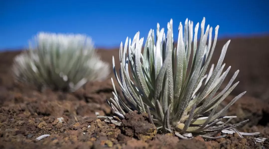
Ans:
POLYGON ((121 43, 119 51, 120 78, 115 70, 114 57, 113 69, 129 106, 117 94, 112 79, 115 90, 113 92, 114 99, 111 98, 108 103, 115 110, 115 113, 120 118, 124 118, 127 112, 133 110, 140 113, 146 112, 150 122, 158 129, 163 132, 175 133, 176 136, 184 139, 192 137, 193 134, 206 138, 224 137, 224 133, 238 133, 240 136, 259 134, 242 133, 235 129, 248 120, 227 125, 236 116, 222 116, 245 92, 236 96, 222 110, 216 111, 218 105, 239 83, 233 84, 239 72, 237 70, 228 85, 217 93, 231 68, 229 66, 223 71, 225 66, 223 59, 230 40, 223 46, 217 65, 214 67, 213 64, 206 74, 216 46, 219 26, 215 28, 215 37, 212 43, 213 29, 208 25, 204 32, 205 18, 203 18, 200 44, 198 44, 199 23, 194 28, 193 38, 193 22, 186 19, 184 28, 180 22, 179 36, 175 47, 172 25, 171 19, 167 24, 168 31, 165 36, 164 28, 160 30, 160 25, 157 24, 156 42, 154 30, 150 29, 143 53, 144 38, 139 39, 139 32, 136 33, 133 41, 127 37, 124 47, 121 43), (192 57, 191 52, 193 53, 192 57), (128 66, 131 68, 135 83, 129 76, 128 66), (209 116, 206 113, 210 113, 209 116), (227 121, 222 122, 222 119, 225 118, 227 121), (220 132, 224 135, 215 137, 220 132))

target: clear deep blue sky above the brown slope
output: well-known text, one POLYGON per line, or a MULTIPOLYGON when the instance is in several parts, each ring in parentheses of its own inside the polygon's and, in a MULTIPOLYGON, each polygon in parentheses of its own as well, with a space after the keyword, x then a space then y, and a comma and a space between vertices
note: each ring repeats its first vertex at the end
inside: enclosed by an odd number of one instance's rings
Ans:
POLYGON ((96 46, 119 47, 137 31, 146 38, 157 22, 166 30, 170 18, 174 31, 186 18, 195 26, 206 17, 206 25, 220 25, 220 37, 264 34, 268 6, 268 0, 0 0, 0 49, 27 47, 39 31, 83 33, 96 46))

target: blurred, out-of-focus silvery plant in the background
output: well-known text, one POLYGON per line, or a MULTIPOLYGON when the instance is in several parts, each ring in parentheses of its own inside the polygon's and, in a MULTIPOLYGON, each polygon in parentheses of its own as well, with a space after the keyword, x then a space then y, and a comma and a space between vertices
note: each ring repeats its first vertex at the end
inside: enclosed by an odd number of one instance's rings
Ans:
POLYGON ((34 47, 17 55, 12 66, 17 81, 38 88, 75 91, 87 81, 106 79, 109 64, 96 54, 86 35, 40 32, 34 47))

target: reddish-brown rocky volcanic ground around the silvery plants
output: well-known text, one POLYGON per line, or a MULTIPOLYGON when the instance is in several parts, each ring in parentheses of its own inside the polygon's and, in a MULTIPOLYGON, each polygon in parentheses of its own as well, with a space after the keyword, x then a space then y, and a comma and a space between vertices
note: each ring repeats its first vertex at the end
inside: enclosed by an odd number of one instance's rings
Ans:
MULTIPOLYGON (((228 39, 227 39, 228 40, 228 39)), ((219 40, 215 56, 227 41, 219 40)), ((236 94, 247 91, 228 111, 236 114, 236 123, 250 119, 239 128, 243 132, 260 132, 255 137, 269 138, 269 36, 256 38, 234 38, 229 45, 225 62, 232 72, 240 69, 240 80, 236 90, 224 101, 232 100, 236 94)), ((118 50, 98 50, 104 61, 115 56, 119 68, 118 50)), ((142 114, 130 113, 122 126, 108 124, 96 118, 111 113, 105 100, 112 97, 110 78, 103 82, 88 83, 74 93, 43 93, 23 84, 15 84, 10 76, 12 58, 19 51, 0 53, 0 148, 269 148, 268 140, 255 143, 253 137, 240 138, 228 135, 217 140, 195 137, 180 140, 171 134, 161 135, 142 114), (58 118, 63 118, 62 122, 58 118), (50 136, 40 141, 38 136, 50 136)), ((216 62, 218 57, 213 58, 216 62)), ((115 79, 115 78, 114 78, 115 79)), ((228 79, 226 80, 226 83, 228 79)), ((116 84, 117 85, 117 84, 116 84)), ((119 91, 119 87, 116 86, 119 91)))

